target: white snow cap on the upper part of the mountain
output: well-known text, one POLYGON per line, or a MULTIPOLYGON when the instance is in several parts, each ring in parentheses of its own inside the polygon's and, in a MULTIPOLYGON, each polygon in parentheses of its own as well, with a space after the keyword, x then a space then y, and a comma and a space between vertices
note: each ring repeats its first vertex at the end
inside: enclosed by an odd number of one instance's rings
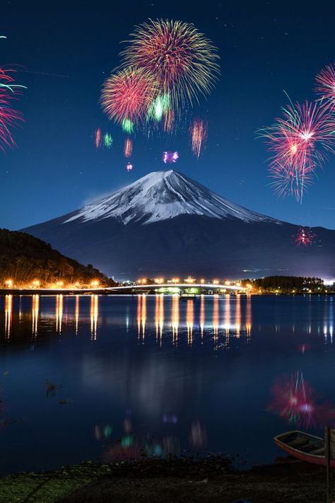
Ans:
POLYGON ((169 170, 149 173, 112 195, 86 204, 63 224, 76 219, 90 221, 108 218, 117 219, 124 225, 136 221, 151 224, 182 214, 204 215, 215 219, 228 216, 246 222, 279 223, 225 200, 182 173, 169 170))

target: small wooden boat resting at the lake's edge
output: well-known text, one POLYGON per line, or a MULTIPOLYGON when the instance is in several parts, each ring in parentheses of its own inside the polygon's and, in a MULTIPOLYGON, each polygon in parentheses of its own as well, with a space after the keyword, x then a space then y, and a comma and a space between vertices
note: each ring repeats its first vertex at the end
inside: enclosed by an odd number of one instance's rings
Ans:
MULTIPOLYGON (((315 465, 326 466, 327 464, 324 439, 319 436, 295 430, 275 436, 274 441, 278 447, 286 451, 290 456, 315 465)), ((331 460, 331 467, 335 468, 335 460, 331 460)))

